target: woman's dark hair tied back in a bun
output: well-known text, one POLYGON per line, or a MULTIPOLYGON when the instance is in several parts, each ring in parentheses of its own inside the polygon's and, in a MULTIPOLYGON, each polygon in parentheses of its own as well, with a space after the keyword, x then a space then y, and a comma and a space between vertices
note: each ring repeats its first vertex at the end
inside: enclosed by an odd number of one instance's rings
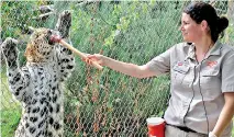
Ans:
POLYGON ((205 20, 213 42, 216 42, 220 34, 229 26, 229 20, 224 16, 218 16, 215 9, 205 2, 191 2, 183 9, 183 12, 198 24, 205 20))

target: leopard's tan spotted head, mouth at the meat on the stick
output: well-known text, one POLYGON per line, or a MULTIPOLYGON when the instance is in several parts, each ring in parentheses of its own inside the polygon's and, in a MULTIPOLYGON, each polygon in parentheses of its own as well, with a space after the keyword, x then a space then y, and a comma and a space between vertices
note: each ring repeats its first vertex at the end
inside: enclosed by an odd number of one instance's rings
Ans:
POLYGON ((49 41, 54 31, 49 28, 33 28, 30 41, 26 45, 25 57, 31 62, 42 62, 49 58, 54 48, 54 43, 49 41))

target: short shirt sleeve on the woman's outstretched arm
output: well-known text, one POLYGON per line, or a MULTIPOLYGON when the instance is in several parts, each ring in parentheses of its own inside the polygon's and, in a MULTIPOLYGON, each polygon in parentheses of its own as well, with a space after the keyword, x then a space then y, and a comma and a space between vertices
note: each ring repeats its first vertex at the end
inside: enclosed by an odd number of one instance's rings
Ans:
POLYGON ((149 70, 155 72, 156 76, 168 73, 170 71, 170 54, 172 48, 174 47, 170 47, 168 50, 158 55, 146 64, 149 70))

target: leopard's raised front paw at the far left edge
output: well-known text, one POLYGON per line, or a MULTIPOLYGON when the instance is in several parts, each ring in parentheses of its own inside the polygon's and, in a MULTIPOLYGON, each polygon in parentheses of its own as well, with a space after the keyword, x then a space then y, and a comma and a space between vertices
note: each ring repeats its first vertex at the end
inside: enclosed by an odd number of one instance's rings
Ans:
POLYGON ((13 61, 18 57, 18 41, 11 37, 5 38, 5 41, 1 44, 2 54, 7 58, 8 61, 13 61))

